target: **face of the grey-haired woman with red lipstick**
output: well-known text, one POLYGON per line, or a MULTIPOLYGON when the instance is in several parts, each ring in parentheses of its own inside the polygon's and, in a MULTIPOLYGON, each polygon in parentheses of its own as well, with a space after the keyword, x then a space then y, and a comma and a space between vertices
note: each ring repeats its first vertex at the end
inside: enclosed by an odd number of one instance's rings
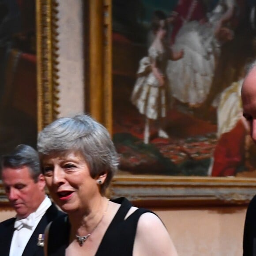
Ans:
POLYGON ((90 176, 79 152, 45 156, 42 169, 50 195, 67 213, 86 208, 95 193, 99 194, 96 178, 90 176))

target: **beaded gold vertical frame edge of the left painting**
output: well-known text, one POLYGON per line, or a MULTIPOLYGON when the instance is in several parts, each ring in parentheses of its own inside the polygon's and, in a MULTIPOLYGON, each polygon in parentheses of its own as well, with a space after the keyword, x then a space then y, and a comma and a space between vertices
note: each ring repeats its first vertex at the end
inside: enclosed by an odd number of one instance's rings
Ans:
POLYGON ((58 114, 57 14, 56 0, 37 1, 38 131, 58 114))

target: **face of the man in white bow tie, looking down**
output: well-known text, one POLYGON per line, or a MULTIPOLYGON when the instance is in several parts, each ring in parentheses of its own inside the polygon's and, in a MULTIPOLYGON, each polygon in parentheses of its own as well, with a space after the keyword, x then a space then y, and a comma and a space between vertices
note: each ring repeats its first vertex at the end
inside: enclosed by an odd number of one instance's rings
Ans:
POLYGON ((30 169, 26 166, 3 168, 2 181, 8 200, 19 218, 26 218, 36 211, 45 198, 43 175, 40 174, 35 183, 30 176, 30 169))

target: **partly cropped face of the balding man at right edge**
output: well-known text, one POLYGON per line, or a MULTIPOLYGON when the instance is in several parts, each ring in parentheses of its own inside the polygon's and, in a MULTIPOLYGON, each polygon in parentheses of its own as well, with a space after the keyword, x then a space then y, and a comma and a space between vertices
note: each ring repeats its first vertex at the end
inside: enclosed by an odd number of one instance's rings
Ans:
POLYGON ((250 126, 250 134, 256 143, 256 68, 245 77, 241 91, 243 116, 250 126))

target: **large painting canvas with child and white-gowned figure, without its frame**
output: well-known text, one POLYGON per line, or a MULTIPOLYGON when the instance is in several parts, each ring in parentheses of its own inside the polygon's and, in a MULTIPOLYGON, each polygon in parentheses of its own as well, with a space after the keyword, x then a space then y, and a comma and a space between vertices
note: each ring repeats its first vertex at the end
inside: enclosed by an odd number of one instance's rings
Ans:
POLYGON ((120 174, 256 177, 241 84, 255 1, 112 1, 120 174))

